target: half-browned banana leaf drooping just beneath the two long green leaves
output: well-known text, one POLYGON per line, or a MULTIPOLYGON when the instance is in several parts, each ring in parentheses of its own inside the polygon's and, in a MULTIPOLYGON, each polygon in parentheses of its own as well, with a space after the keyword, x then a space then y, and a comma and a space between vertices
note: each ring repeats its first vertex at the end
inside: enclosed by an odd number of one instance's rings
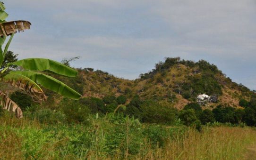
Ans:
POLYGON ((45 101, 46 96, 43 90, 33 81, 24 75, 8 74, 3 79, 14 87, 20 88, 30 96, 35 97, 39 101, 45 101))

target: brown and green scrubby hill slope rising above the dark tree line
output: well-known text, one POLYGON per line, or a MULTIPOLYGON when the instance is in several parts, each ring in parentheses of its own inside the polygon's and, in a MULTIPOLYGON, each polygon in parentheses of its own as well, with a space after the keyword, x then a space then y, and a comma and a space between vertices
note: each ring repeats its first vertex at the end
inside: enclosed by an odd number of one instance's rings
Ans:
POLYGON ((141 99, 167 100, 174 107, 182 109, 196 96, 207 94, 218 96, 217 103, 209 103, 205 108, 219 104, 239 107, 239 100, 249 100, 256 94, 241 84, 232 82, 214 64, 204 60, 199 62, 166 58, 155 64, 151 72, 140 74, 136 80, 117 78, 107 72, 79 69, 76 79, 58 77, 82 93, 84 97, 125 95, 128 99, 138 95, 141 99))

